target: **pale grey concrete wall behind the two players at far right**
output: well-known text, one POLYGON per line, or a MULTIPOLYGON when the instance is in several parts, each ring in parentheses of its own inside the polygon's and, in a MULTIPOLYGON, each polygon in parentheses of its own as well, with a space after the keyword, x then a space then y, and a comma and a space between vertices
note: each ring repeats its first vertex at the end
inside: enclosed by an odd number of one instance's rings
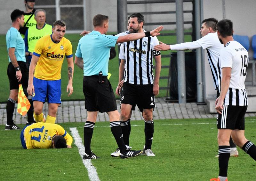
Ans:
MULTIPOLYGON (((248 35, 250 38, 250 50, 249 57, 252 57, 252 47, 251 39, 252 35, 256 34, 256 1, 255 0, 226 0, 225 1, 225 13, 226 19, 233 21, 234 34, 237 35, 248 35)), ((223 19, 222 11, 222 0, 204 0, 203 1, 203 11, 205 18, 217 18, 218 20, 223 19)), ((206 98, 211 98, 216 96, 216 91, 212 83, 212 75, 210 74, 210 66, 207 59, 207 53, 205 51, 205 87, 206 87, 206 98)), ((246 81, 252 80, 252 68, 251 65, 248 67, 248 72, 246 76, 246 81)))

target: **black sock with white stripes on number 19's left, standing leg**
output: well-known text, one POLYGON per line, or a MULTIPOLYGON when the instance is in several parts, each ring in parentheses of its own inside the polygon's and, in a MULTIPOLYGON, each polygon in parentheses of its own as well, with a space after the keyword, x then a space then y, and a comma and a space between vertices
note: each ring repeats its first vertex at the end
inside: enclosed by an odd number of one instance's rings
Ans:
POLYGON ((219 146, 219 176, 227 177, 230 146, 219 146))

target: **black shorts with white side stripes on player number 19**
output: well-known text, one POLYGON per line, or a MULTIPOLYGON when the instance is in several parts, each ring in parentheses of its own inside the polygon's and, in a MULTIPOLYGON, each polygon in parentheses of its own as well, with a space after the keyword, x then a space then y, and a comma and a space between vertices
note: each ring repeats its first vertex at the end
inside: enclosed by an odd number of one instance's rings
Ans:
POLYGON ((217 114, 218 129, 244 130, 244 115, 247 105, 224 105, 222 114, 217 114))

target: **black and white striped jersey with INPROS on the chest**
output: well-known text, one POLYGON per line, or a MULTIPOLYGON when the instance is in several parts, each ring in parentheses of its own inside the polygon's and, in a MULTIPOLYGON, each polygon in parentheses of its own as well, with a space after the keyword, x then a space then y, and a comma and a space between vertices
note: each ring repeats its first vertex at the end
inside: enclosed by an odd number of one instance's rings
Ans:
MULTIPOLYGON (((130 32, 118 34, 123 36, 130 32)), ((153 56, 160 55, 154 46, 159 41, 156 37, 144 37, 140 40, 124 42, 120 47, 119 58, 125 60, 124 82, 132 84, 153 84, 153 56)))

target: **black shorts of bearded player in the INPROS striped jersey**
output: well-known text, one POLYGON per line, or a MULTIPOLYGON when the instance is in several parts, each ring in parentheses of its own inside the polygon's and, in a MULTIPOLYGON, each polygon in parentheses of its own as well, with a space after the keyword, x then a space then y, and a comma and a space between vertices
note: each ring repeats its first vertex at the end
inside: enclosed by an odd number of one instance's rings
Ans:
POLYGON ((143 112, 143 109, 155 108, 153 84, 137 85, 124 82, 121 104, 136 104, 140 112, 143 112))

